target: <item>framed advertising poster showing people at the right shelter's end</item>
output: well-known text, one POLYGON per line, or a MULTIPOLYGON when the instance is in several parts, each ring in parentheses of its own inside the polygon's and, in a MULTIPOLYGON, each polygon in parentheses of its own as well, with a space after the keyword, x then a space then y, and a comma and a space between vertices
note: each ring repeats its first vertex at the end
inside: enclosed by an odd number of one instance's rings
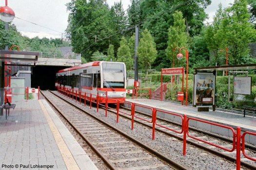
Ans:
POLYGON ((197 73, 194 77, 194 105, 215 104, 215 75, 213 73, 197 73))

